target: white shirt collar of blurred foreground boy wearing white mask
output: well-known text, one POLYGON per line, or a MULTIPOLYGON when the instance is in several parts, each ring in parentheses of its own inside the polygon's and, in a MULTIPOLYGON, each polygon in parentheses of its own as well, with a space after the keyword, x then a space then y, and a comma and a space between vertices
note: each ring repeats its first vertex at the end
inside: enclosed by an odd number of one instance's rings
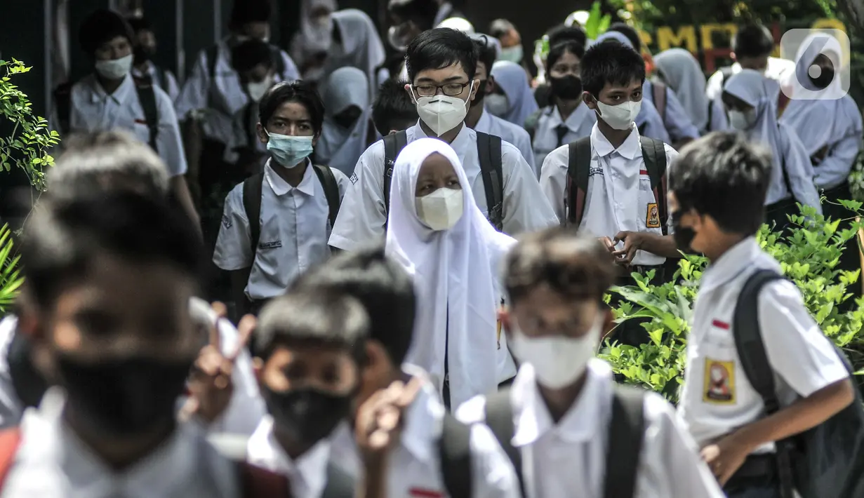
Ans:
POLYGON ((612 382, 612 369, 596 358, 585 369, 585 386, 564 417, 556 424, 537 388, 537 376, 530 363, 524 363, 513 381, 511 402, 516 419, 512 444, 534 444, 547 433, 570 443, 588 441, 597 436, 603 404, 600 400, 612 382))

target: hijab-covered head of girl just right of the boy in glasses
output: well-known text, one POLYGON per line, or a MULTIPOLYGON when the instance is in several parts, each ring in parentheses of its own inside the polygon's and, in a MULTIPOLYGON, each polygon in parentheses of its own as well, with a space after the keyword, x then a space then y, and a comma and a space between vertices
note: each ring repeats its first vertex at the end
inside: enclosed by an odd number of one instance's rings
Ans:
POLYGON ((486 96, 486 110, 518 126, 536 112, 537 100, 531 91, 528 74, 522 66, 507 60, 492 64, 496 91, 486 96))

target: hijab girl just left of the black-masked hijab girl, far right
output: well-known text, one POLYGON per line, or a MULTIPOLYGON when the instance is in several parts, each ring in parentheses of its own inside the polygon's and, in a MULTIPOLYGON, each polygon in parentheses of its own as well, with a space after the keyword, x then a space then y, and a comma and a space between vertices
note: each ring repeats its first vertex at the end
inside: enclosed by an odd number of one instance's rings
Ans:
POLYGON ((774 167, 766 196, 766 222, 782 229, 789 223, 787 214, 799 214, 796 202, 810 205, 819 213, 822 206, 813 183, 810 154, 791 126, 778 123, 779 93, 777 81, 753 69, 743 69, 727 80, 721 98, 732 128, 772 153, 774 167))

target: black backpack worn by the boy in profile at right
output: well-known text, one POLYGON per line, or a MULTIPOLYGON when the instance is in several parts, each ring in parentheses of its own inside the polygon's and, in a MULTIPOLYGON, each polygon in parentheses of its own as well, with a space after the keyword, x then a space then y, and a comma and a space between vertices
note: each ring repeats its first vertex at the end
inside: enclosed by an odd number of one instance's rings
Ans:
MULTIPOLYGON (((766 415, 780 404, 774 372, 768 362, 759 326, 759 291, 772 281, 785 280, 773 270, 750 275, 738 295, 732 331, 741 368, 753 389, 765 402, 766 415)), ((848 358, 837 350, 852 375, 848 358)), ((864 409, 861 393, 854 389, 851 405, 809 431, 777 441, 781 496, 791 498, 797 489, 802 498, 861 498, 864 496, 864 409)))

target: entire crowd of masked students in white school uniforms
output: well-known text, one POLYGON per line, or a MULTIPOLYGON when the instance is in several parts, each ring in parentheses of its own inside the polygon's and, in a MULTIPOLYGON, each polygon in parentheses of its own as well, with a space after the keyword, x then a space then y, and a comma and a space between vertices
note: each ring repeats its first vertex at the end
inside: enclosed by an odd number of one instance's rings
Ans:
POLYGON ((269 5, 236 2, 181 86, 143 19, 82 25, 94 72, 56 92, 0 321, 0 497, 791 498, 783 442, 864 421, 754 238, 848 196, 854 101, 780 98, 824 54, 746 25, 706 80, 569 23, 532 79, 511 22, 448 3, 391 0, 395 60, 334 0, 302 2, 289 56, 269 5), (710 265, 672 407, 594 356, 646 340, 609 287, 682 252, 710 265))

